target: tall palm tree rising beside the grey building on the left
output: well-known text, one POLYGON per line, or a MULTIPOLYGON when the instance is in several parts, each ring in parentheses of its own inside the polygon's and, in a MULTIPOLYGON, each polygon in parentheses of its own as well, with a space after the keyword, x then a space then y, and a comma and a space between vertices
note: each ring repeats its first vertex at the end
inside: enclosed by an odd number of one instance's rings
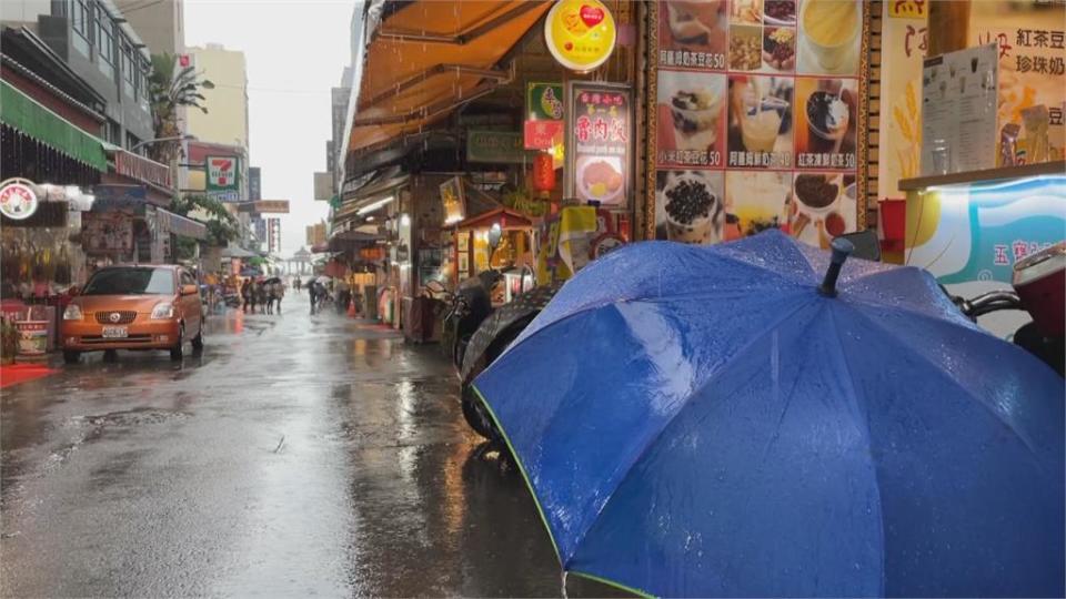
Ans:
MULTIPOLYGON (((208 109, 201 103, 205 99, 200 89, 214 89, 214 83, 201 79, 193 67, 184 67, 175 72, 177 67, 178 57, 174 54, 152 54, 152 74, 148 81, 157 140, 181 134, 178 130, 179 106, 198 109, 207 114, 208 109)), ((162 142, 150 144, 148 151, 152 160, 170 164, 177 148, 177 141, 162 142)))

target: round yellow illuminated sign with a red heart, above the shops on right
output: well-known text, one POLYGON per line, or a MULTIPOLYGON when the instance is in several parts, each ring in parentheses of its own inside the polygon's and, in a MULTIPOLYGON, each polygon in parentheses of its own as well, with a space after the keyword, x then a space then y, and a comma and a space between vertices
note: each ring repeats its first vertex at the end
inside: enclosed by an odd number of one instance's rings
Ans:
POLYGON ((585 72, 611 57, 617 29, 611 11, 600 0, 560 0, 547 12, 544 39, 560 64, 585 72))

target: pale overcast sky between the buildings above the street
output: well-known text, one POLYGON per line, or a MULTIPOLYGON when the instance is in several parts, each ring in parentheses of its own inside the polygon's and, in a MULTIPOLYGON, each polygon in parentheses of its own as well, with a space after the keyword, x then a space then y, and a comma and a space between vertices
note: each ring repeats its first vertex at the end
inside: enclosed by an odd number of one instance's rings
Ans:
POLYGON ((282 253, 304 245, 304 226, 329 214, 313 200, 325 171, 330 88, 348 63, 352 0, 185 0, 185 44, 221 43, 248 61, 251 165, 263 200, 289 200, 282 253))

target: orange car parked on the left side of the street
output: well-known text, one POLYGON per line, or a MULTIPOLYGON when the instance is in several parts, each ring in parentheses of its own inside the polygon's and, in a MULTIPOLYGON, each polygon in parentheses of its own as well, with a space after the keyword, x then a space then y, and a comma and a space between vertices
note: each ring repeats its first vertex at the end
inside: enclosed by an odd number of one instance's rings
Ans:
POLYGON ((180 266, 108 266, 93 273, 63 312, 63 359, 82 352, 203 348, 203 305, 197 281, 180 266))

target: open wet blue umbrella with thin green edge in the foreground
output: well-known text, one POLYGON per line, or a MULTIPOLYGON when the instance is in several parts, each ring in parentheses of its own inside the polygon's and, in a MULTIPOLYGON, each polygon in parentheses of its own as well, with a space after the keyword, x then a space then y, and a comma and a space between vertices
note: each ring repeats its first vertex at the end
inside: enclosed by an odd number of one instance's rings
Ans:
POLYGON ((593 262, 475 379, 563 570, 637 593, 1062 596, 1063 379, 928 273, 773 231, 593 262))

